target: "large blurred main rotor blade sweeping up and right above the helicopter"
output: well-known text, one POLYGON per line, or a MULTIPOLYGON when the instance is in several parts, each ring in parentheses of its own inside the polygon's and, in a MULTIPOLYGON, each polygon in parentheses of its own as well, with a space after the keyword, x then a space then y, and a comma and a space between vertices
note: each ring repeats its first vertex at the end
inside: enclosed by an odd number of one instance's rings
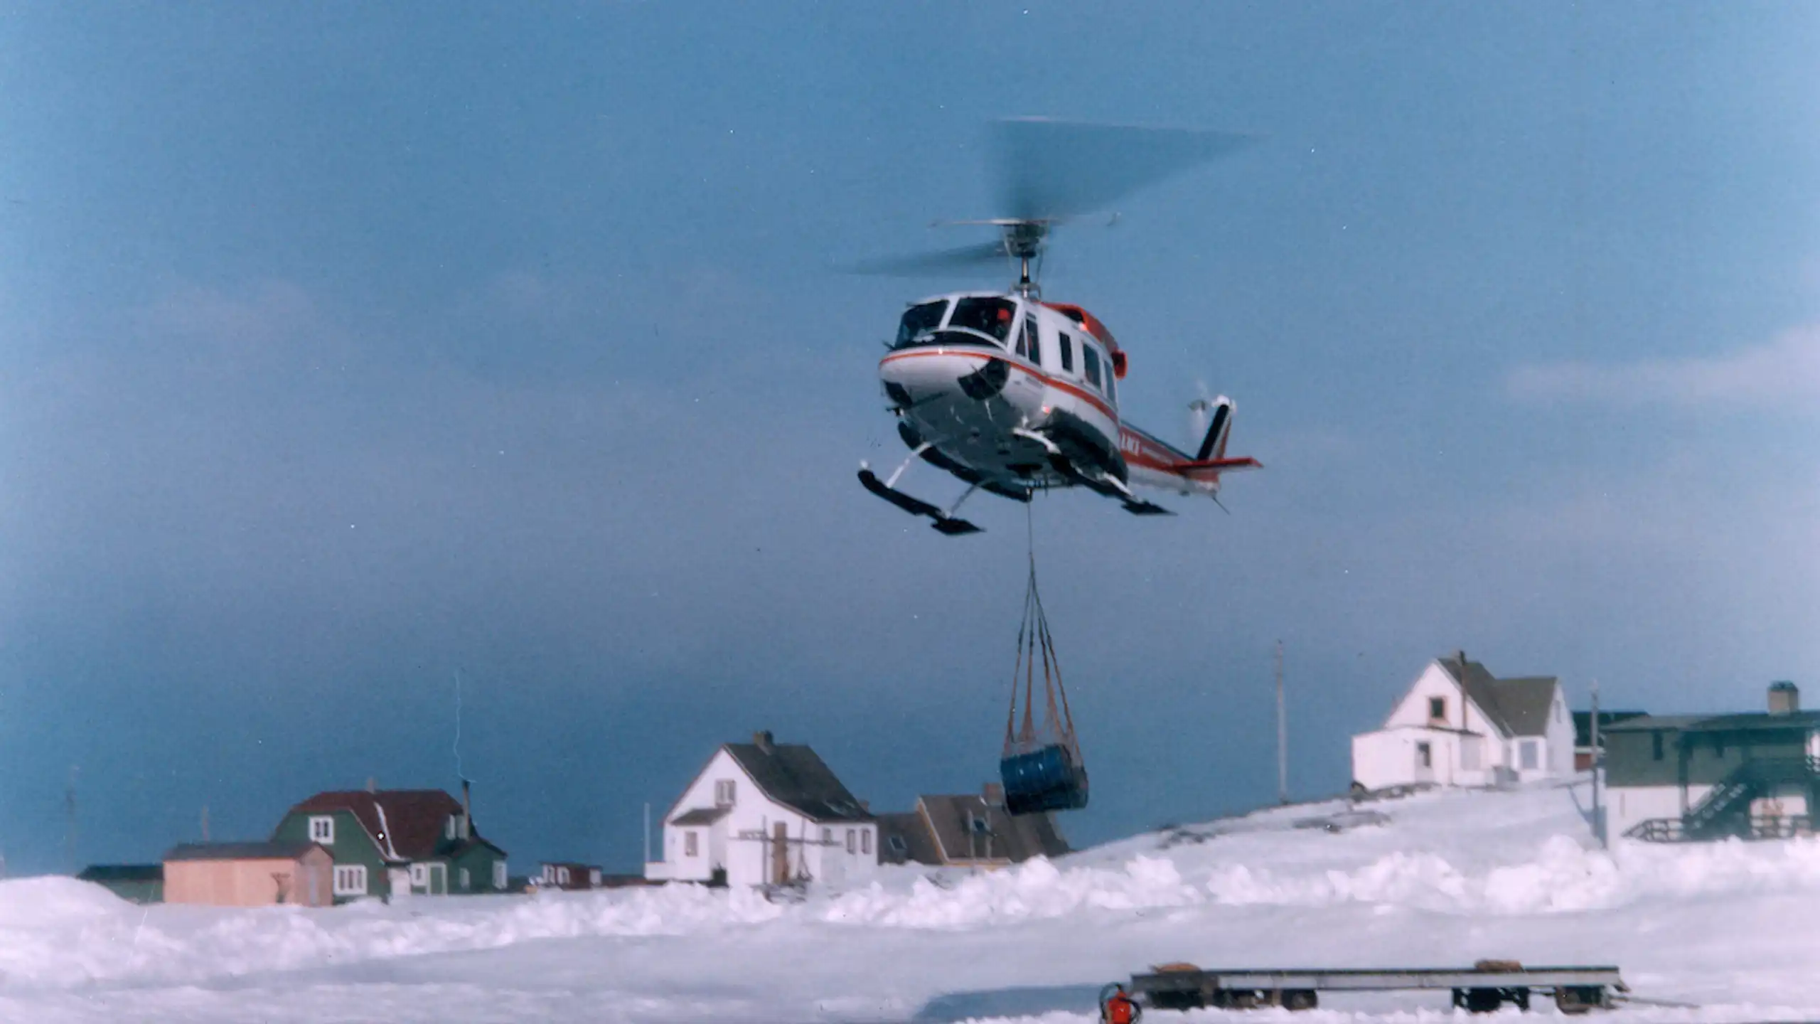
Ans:
POLYGON ((1105 210, 1178 171, 1250 146, 1254 135, 1016 118, 992 124, 997 213, 1057 220, 1105 210))

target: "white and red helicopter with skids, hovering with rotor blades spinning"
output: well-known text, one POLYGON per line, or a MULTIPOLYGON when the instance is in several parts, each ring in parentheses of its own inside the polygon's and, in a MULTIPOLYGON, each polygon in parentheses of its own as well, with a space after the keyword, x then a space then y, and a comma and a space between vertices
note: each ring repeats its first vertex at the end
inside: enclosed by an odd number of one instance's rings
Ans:
POLYGON ((1174 512, 1139 497, 1134 485, 1218 503, 1223 474, 1261 468, 1227 456, 1232 399, 1190 404, 1210 414, 1192 454, 1125 421, 1117 395, 1125 350, 1090 312, 1045 301, 1036 275, 1056 226, 1252 137, 1014 118, 994 122, 990 138, 1005 215, 948 224, 992 226, 997 241, 854 268, 886 275, 992 262, 1019 268, 1017 282, 1003 292, 950 292, 908 304, 879 359, 879 381, 910 456, 883 479, 863 461, 859 483, 948 536, 981 532, 957 516, 977 490, 1028 503, 1037 490, 1083 486, 1136 516, 1174 512), (966 492, 943 508, 899 490, 917 459, 959 477, 966 492))

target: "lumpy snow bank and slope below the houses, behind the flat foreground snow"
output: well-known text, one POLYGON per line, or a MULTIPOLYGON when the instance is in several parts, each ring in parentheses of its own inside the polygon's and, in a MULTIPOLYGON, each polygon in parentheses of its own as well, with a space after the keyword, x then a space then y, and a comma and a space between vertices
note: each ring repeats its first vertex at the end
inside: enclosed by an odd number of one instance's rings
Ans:
POLYGON ((874 884, 814 893, 799 904, 670 886, 333 909, 142 907, 69 878, 5 880, 0 993, 195 984, 550 938, 724 937, 768 927, 837 937, 1063 922, 1063 931, 1074 931, 1067 922, 1096 926, 1148 909, 1183 909, 1194 915, 1183 920, 1218 927, 1238 907, 1347 904, 1525 918, 1740 895, 1800 895, 1820 906, 1816 840, 1622 844, 1607 855, 1589 849, 1567 789, 1425 796, 1378 809, 1387 822, 1340 835, 1298 829, 1287 813, 1270 813, 1225 831, 1203 829, 1190 842, 1181 831, 1138 836, 996 873, 885 869, 874 884))

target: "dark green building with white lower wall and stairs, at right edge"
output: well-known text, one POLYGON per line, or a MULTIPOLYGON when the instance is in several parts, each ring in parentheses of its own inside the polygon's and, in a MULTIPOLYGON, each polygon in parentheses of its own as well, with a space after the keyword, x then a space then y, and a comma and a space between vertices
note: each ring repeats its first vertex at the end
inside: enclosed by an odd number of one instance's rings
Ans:
POLYGON ((1820 712, 1791 681, 1736 714, 1645 714, 1605 729, 1607 835, 1654 842, 1813 835, 1820 712))

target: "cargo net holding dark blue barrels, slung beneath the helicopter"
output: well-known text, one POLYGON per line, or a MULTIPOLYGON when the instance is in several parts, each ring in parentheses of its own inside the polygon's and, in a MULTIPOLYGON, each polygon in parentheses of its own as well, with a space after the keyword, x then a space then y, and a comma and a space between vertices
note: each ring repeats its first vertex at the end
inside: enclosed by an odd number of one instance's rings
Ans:
POLYGON ((1012 669, 1012 703, 1005 716, 1005 754, 999 760, 999 778, 1005 782, 1005 809, 1012 814, 1087 807, 1087 765, 1081 762, 1081 743, 1074 736, 1068 692, 1061 687, 1056 640, 1048 632, 1043 596, 1036 589, 1036 558, 1030 559, 1025 616, 1017 629, 1017 663, 1012 669), (1041 722, 1036 718, 1039 663, 1043 669, 1041 722))

